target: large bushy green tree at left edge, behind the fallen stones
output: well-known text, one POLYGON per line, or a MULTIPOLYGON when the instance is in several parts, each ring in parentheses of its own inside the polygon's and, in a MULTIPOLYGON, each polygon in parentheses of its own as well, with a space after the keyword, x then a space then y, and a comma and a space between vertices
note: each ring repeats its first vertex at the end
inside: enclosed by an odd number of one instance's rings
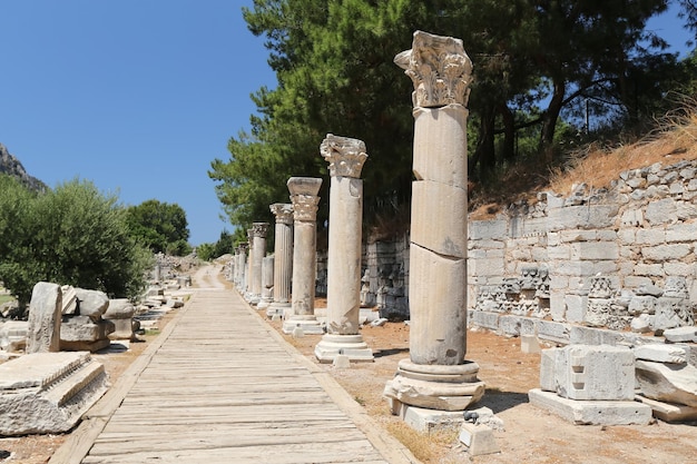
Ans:
POLYGON ((132 238, 126 211, 89 181, 36 194, 0 176, 0 279, 21 305, 38 282, 136 297, 151 255, 132 238))

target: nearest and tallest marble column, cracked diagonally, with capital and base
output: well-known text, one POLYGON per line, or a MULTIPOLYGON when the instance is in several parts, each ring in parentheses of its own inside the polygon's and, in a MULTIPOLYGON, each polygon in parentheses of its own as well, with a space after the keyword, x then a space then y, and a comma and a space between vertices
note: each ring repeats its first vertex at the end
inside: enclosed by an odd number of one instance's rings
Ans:
POLYGON ((414 82, 410 358, 384 394, 410 406, 463 411, 484 393, 467 352, 467 102, 472 62, 462 40, 414 32, 395 63, 414 82))

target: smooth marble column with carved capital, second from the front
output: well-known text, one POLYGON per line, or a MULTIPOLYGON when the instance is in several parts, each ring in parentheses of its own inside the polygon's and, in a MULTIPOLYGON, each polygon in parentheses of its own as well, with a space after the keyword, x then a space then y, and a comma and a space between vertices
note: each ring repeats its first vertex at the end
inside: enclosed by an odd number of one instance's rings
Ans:
POLYGON ((315 356, 321 363, 332 363, 338 354, 350 361, 373 361, 373 352, 359 334, 363 224, 360 177, 367 158, 365 144, 328 134, 320 152, 330 164, 330 248, 327 333, 315 346, 315 356))

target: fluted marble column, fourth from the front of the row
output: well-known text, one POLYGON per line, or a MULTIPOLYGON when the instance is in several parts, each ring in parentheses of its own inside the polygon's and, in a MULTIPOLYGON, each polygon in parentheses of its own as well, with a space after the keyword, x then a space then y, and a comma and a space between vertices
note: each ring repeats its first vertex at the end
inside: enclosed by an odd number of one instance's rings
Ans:
POLYGON ((293 276, 293 205, 276 203, 269 206, 276 217, 274 229, 274 302, 266 315, 283 316, 291 308, 291 277, 293 276))

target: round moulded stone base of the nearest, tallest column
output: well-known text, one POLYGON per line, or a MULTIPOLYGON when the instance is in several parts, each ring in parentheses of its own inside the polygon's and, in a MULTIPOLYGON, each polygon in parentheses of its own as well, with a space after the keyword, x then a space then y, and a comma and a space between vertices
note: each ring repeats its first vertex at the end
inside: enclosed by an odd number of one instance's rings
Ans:
POLYGON ((394 378, 385 384, 383 395, 389 398, 392 414, 402 406, 439 411, 464 411, 484 395, 484 383, 477 378, 479 365, 465 362, 459 365, 421 365, 402 359, 394 378))

